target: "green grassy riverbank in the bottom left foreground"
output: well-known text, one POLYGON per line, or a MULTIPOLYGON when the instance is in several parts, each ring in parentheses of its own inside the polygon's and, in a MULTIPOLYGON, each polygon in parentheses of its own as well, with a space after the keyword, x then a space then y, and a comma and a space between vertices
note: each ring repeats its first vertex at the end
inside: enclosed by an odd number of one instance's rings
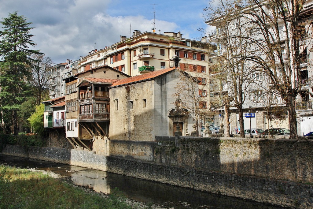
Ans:
POLYGON ((118 190, 104 198, 42 172, 0 165, 0 208, 129 209, 118 190))

